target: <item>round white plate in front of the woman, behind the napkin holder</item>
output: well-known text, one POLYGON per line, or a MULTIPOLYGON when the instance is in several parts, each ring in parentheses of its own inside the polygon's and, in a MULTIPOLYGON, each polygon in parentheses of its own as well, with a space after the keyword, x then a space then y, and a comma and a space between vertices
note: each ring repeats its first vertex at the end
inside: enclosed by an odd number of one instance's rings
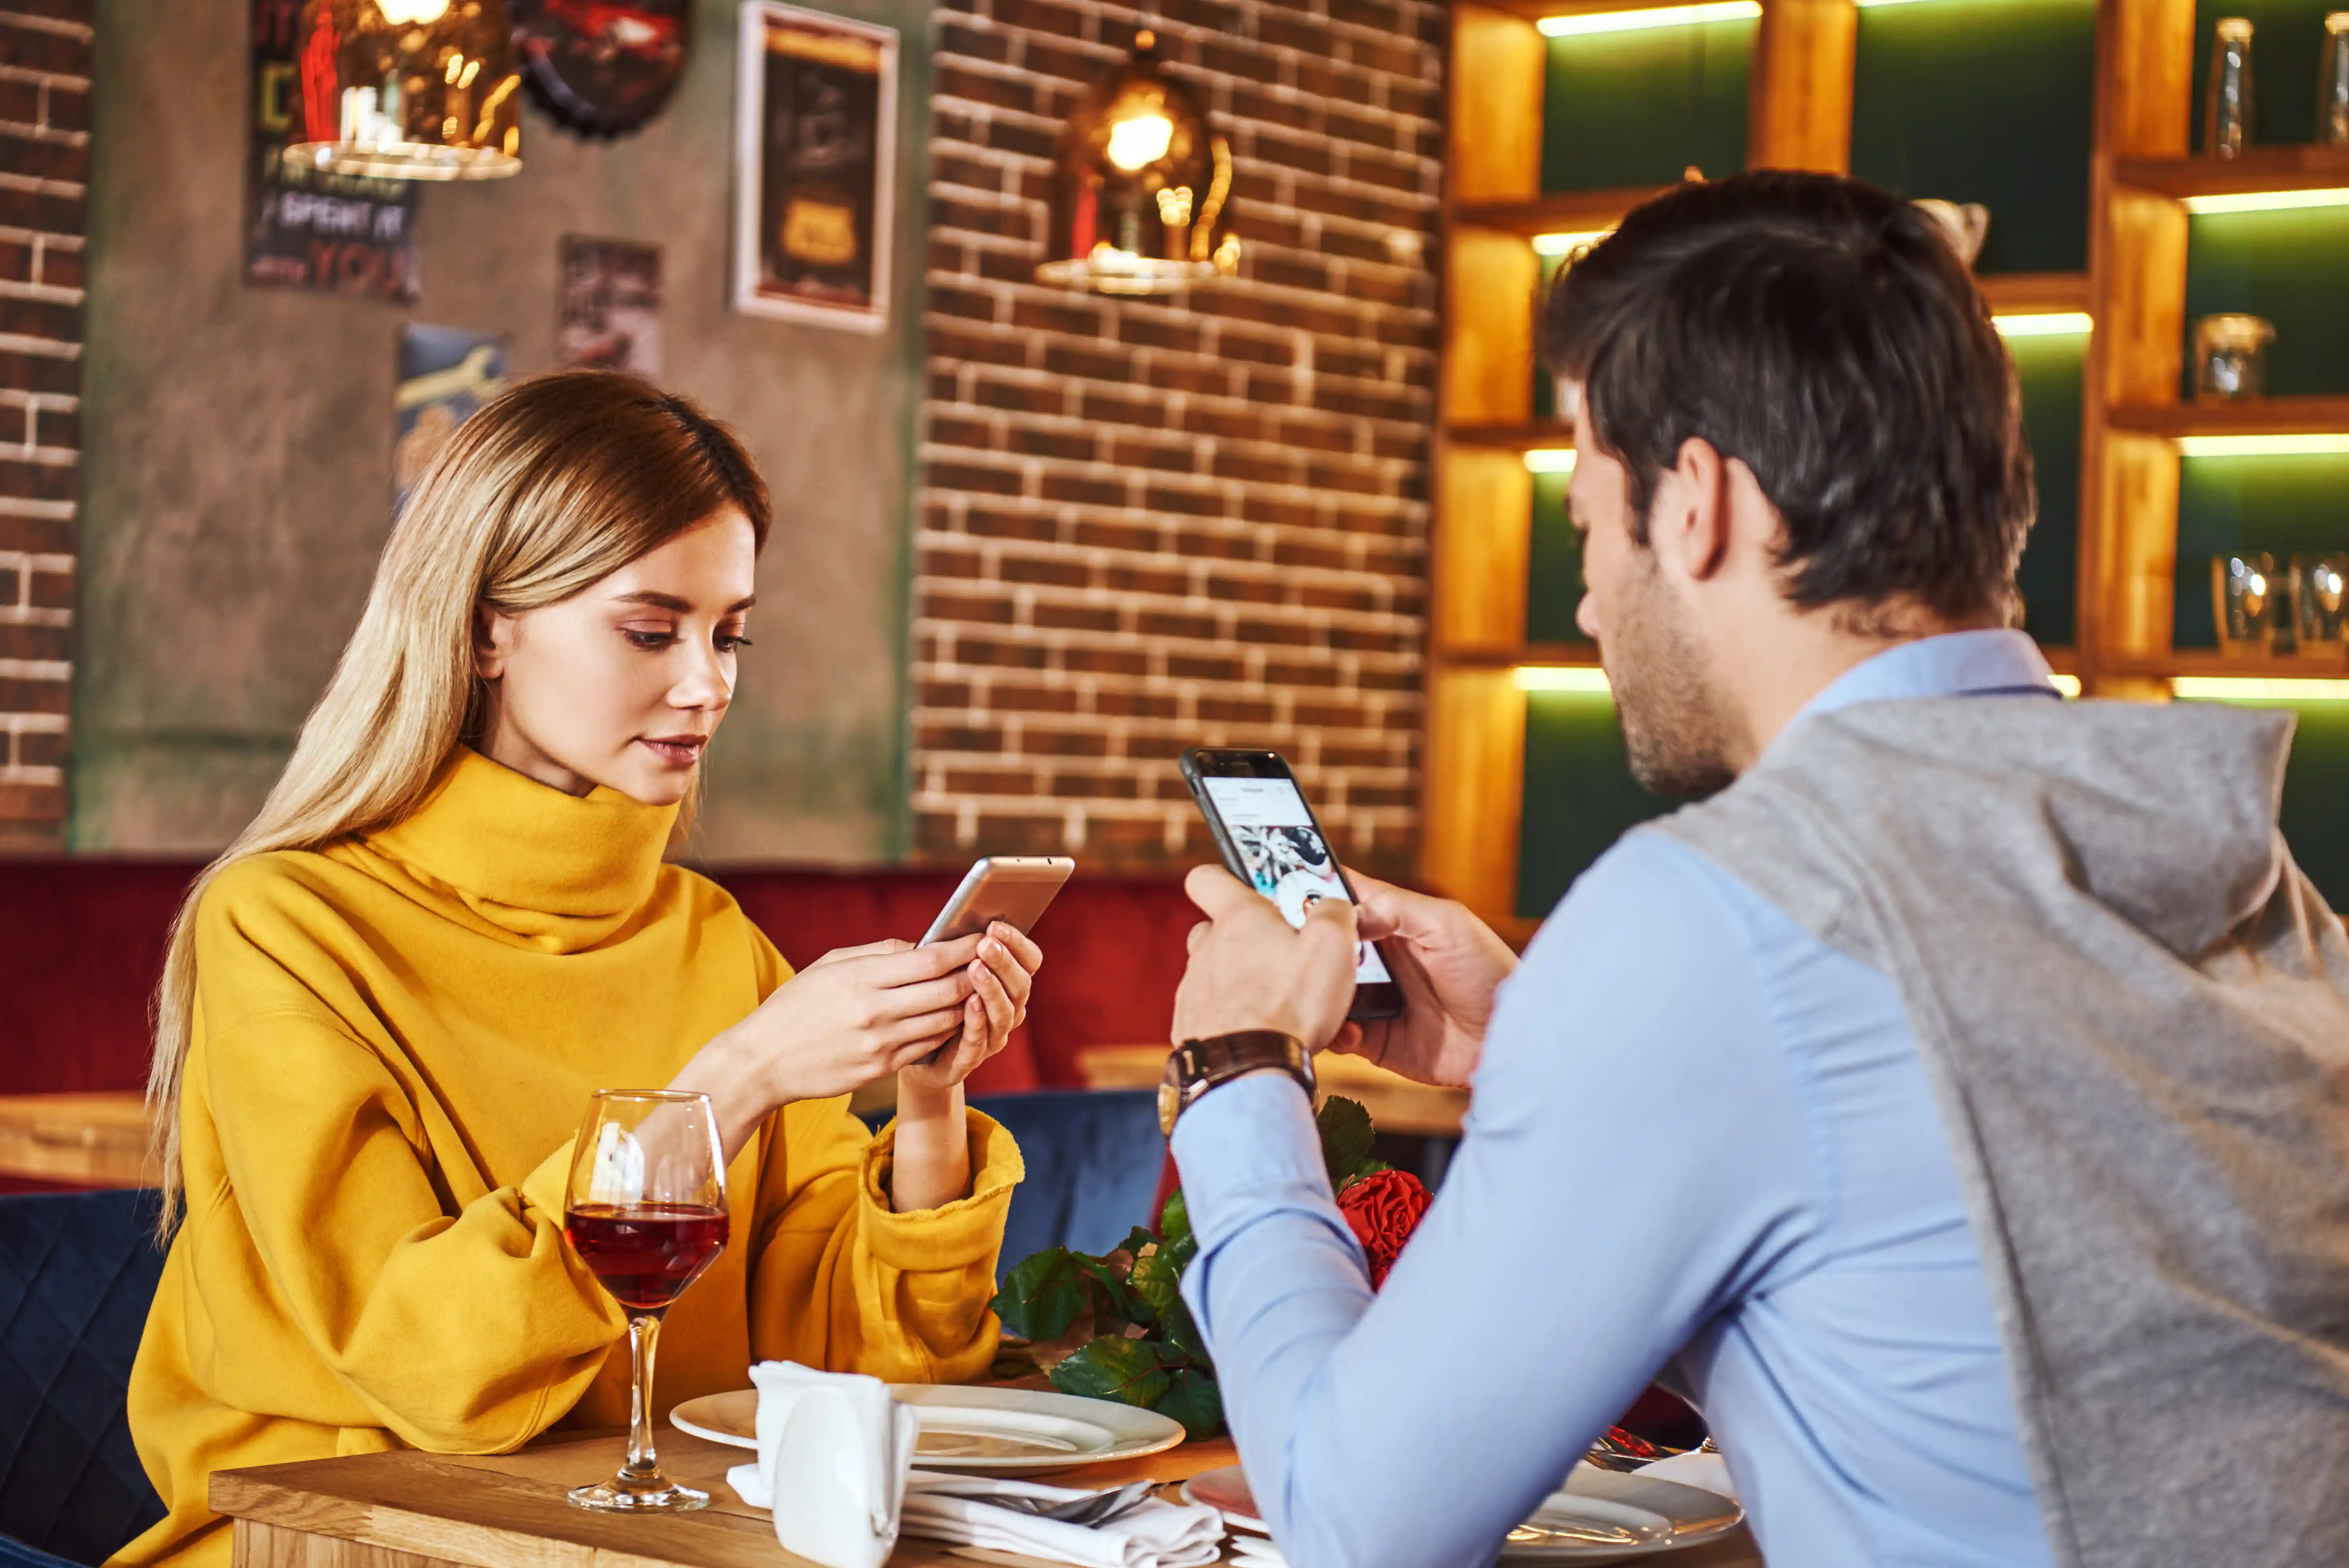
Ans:
MULTIPOLYGON (((1182 1443, 1182 1422, 1111 1399, 1045 1389, 972 1389, 893 1382, 890 1396, 914 1406, 923 1469, 982 1469, 1024 1476, 1076 1465, 1137 1460, 1182 1443)), ((705 1394, 669 1410, 669 1425, 731 1448, 759 1446, 759 1392, 705 1394)))

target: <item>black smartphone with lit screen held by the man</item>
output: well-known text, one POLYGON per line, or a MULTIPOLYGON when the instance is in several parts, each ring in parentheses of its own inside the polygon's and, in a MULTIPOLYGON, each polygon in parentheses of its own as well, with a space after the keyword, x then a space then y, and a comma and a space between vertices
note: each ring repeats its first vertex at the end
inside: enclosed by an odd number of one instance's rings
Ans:
MULTIPOLYGON (((1214 846, 1233 877, 1271 898, 1292 926, 1322 898, 1360 903, 1322 837, 1306 792, 1280 752, 1207 750, 1182 755, 1182 776, 1207 816, 1214 846)), ((1362 943, 1353 966, 1353 1006, 1346 1018, 1395 1018, 1395 985, 1379 943, 1362 943)))

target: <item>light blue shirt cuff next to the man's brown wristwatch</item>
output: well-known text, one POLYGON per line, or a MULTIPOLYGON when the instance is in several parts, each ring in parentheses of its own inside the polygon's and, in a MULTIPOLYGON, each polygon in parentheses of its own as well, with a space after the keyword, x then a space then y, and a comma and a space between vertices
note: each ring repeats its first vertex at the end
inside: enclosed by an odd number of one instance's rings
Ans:
POLYGON ((1203 1093, 1174 1121, 1172 1150, 1191 1234, 1203 1248, 1259 1213, 1261 1199, 1337 1201, 1313 1103, 1283 1072, 1257 1072, 1203 1093))

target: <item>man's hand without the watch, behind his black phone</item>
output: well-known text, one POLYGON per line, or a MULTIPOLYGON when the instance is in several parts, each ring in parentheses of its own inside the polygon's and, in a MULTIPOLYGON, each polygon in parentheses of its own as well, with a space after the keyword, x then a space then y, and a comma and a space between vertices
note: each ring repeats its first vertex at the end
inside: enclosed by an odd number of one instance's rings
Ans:
POLYGON ((1346 872, 1365 940, 1384 940, 1402 985, 1402 1018, 1348 1023, 1332 1051, 1369 1058, 1421 1084, 1466 1086, 1485 1056, 1494 992, 1517 969, 1492 926, 1452 903, 1346 872))

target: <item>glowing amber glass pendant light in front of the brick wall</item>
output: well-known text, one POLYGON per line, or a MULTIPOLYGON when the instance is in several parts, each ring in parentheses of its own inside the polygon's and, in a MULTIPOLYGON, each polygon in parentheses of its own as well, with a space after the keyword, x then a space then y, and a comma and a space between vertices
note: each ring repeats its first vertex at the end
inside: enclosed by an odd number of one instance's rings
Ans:
POLYGON ((1052 172, 1050 254, 1038 282, 1097 294, 1179 294, 1240 266, 1231 143, 1158 71, 1158 38, 1071 110, 1052 172))

